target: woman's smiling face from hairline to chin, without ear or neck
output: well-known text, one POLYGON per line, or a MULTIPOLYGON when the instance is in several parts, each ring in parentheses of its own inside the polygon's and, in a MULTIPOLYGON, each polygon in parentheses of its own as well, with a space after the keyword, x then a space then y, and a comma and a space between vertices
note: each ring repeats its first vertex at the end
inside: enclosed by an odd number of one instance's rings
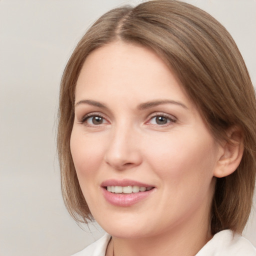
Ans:
POLYGON ((112 236, 207 225, 218 146, 150 49, 114 42, 86 58, 70 147, 90 211, 112 236))

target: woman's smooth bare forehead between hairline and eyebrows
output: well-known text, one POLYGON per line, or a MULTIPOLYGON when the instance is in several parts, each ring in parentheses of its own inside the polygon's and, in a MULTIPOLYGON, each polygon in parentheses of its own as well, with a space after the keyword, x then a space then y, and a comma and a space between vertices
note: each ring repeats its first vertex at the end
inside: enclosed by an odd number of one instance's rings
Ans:
POLYGON ((179 80, 154 51, 121 41, 89 54, 77 79, 75 97, 76 101, 80 97, 105 94, 110 98, 113 93, 119 93, 120 97, 137 94, 141 97, 142 93, 146 100, 168 94, 188 100, 179 80))

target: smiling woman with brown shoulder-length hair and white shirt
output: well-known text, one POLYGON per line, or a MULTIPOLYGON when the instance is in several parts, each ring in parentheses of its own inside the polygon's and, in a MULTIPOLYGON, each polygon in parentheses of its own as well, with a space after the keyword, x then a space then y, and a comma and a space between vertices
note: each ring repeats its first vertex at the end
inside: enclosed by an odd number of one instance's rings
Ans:
POLYGON ((225 28, 174 0, 113 9, 60 87, 62 192, 109 234, 75 255, 256 255, 256 100, 225 28))

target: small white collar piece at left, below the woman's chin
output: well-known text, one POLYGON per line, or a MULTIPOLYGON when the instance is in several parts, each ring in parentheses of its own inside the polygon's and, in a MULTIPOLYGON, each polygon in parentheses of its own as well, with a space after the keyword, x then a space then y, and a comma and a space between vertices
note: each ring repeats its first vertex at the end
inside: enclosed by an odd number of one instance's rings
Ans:
POLYGON ((107 244, 110 240, 110 235, 105 234, 95 242, 88 245, 83 250, 73 254, 72 256, 105 256, 107 244))

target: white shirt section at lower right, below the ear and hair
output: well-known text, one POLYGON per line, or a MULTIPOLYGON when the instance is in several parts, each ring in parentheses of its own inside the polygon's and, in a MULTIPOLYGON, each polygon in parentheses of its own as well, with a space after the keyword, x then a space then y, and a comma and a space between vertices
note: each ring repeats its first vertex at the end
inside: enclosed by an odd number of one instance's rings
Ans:
POLYGON ((255 247, 239 234, 231 230, 216 233, 196 254, 196 256, 256 256, 255 247))

